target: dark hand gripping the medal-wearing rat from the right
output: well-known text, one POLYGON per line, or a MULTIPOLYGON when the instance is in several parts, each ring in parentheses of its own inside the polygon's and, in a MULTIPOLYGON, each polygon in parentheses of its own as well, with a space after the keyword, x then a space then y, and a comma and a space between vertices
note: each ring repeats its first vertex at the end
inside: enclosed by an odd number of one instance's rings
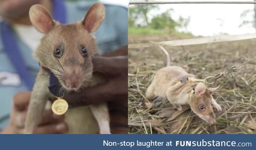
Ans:
POLYGON ((116 51, 95 56, 94 74, 102 73, 107 82, 83 89, 82 93, 65 96, 70 105, 91 105, 108 103, 110 128, 112 134, 127 134, 128 114, 128 57, 127 46, 116 51))

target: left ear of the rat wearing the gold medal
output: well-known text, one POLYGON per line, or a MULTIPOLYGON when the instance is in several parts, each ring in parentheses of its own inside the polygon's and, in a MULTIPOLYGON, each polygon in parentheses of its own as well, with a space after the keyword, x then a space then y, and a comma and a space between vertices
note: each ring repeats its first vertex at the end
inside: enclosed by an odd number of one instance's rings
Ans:
POLYGON ((39 4, 30 7, 29 18, 33 26, 42 34, 47 34, 55 24, 49 11, 39 4))

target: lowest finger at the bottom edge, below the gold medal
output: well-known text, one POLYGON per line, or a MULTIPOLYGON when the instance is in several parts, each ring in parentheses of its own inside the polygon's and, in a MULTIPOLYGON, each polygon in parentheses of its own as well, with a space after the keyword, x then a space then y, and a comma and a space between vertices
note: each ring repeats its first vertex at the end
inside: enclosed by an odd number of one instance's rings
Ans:
POLYGON ((68 131, 66 123, 55 123, 39 126, 34 130, 34 134, 64 134, 68 131))

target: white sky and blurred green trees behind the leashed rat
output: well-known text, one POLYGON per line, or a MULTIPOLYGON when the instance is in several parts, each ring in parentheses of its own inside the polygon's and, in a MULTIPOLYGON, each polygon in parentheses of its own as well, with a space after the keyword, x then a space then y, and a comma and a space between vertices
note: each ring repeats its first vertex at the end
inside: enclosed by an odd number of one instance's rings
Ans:
MULTIPOLYGON (((154 0, 150 0, 150 2, 153 1, 154 0)), ((175 1, 177 0, 174 0, 174 2, 175 1)), ((137 2, 137 0, 132 0, 132 2, 137 2)), ((169 34, 177 34, 177 32, 180 32, 193 34, 195 36, 254 34, 256 31, 255 22, 256 9, 253 4, 164 4, 129 6, 130 34, 135 32, 141 34, 163 34, 166 32, 169 34)))

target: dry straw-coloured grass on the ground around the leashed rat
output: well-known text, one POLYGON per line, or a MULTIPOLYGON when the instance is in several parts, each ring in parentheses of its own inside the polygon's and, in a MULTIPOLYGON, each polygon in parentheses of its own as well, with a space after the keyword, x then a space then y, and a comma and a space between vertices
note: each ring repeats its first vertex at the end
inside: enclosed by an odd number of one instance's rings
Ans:
MULTIPOLYGON (((129 36, 129 44, 179 39, 169 36, 129 36)), ((165 47, 171 64, 203 79, 256 56, 256 40, 196 46, 165 47)), ((165 66, 165 56, 158 47, 129 49, 129 133, 130 134, 256 134, 256 61, 218 80, 213 97, 222 106, 216 112, 217 123, 199 119, 189 107, 176 111, 158 98, 143 103, 145 92, 155 72, 165 66)))

